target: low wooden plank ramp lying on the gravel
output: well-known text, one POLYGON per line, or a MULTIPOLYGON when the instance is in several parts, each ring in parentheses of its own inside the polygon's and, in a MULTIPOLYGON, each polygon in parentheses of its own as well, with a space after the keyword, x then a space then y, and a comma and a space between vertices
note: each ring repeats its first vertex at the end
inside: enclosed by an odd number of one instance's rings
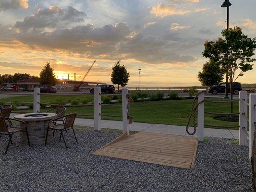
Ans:
POLYGON ((125 133, 92 154, 177 168, 192 168, 197 144, 195 137, 148 132, 127 136, 125 133))

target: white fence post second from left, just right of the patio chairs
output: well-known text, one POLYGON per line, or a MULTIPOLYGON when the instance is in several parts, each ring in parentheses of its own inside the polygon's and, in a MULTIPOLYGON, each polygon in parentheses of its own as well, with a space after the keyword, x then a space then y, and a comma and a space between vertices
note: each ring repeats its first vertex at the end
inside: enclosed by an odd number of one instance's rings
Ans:
POLYGON ((94 130, 100 131, 100 113, 101 113, 101 90, 100 87, 94 87, 94 130))

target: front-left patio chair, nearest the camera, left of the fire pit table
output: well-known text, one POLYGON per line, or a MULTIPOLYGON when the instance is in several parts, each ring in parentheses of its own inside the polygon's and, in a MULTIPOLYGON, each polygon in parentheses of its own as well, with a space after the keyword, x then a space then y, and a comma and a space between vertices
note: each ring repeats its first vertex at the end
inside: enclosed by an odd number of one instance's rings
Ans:
POLYGON ((9 135, 9 142, 7 144, 4 154, 7 154, 9 145, 10 143, 12 144, 12 135, 16 132, 26 132, 28 146, 30 146, 26 122, 22 120, 15 120, 15 119, 6 118, 6 117, 0 117, 0 135, 9 135), (8 126, 7 121, 11 121, 11 120, 20 122, 20 126, 8 126))

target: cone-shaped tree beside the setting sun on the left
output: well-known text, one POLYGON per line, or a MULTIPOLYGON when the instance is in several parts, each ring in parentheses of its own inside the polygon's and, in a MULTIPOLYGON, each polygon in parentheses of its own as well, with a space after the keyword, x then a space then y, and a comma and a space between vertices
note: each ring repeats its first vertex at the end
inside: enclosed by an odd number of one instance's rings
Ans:
POLYGON ((57 83, 57 79, 53 73, 53 69, 50 66, 50 62, 47 62, 45 67, 40 72, 39 83, 40 85, 55 85, 57 83))

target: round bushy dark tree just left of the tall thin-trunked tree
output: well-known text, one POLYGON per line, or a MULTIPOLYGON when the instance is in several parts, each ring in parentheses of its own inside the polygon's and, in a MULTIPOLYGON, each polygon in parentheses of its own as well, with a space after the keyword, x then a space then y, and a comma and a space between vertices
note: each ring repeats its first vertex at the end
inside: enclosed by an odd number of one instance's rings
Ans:
POLYGON ((197 77, 203 86, 212 86, 221 83, 223 74, 220 66, 214 60, 209 60, 203 65, 203 71, 198 72, 197 77))

